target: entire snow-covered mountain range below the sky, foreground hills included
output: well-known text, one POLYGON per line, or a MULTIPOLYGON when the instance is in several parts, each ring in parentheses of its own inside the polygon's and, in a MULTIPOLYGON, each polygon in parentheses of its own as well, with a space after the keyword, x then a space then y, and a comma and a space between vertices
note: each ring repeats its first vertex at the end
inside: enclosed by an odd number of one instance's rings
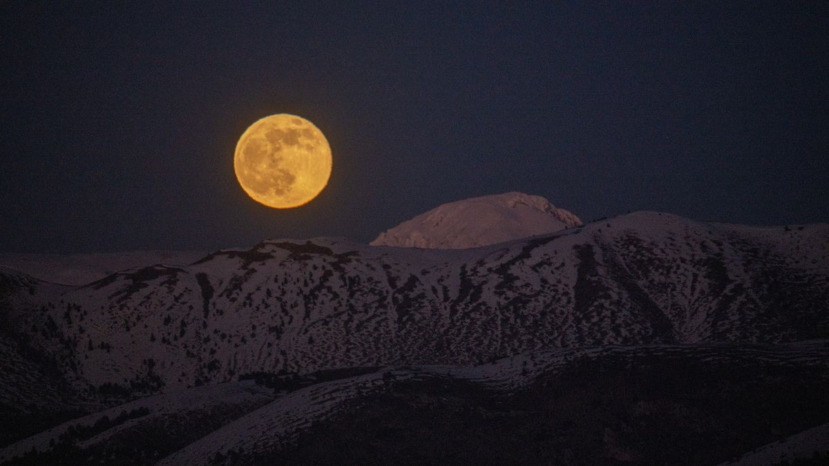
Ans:
POLYGON ((403 433, 492 420, 478 439, 538 427, 501 444, 528 455, 519 463, 699 464, 829 422, 815 407, 829 378, 829 226, 650 211, 582 225, 519 194, 439 207, 375 245, 264 240, 78 285, 0 268, 0 462, 325 463, 336 458, 324 439, 336 438, 361 445, 349 453, 359 464, 451 463, 437 438, 403 433), (505 199, 516 203, 490 209, 505 199), (497 234, 441 227, 477 218, 446 212, 499 209, 497 234), (559 223, 513 228, 538 211, 559 223), (447 216, 424 242, 400 240, 436 212, 447 216), (786 400, 770 395, 783 390, 786 400), (716 405, 718 393, 771 406, 778 422, 750 430, 746 401, 726 425, 692 402, 716 405), (419 417, 424 403, 437 417, 419 417), (562 406, 587 414, 559 425, 562 406), (698 430, 710 451, 665 450, 676 432, 648 439, 662 418, 698 430), (181 434, 162 442, 158 425, 181 434), (432 446, 400 454, 418 443, 432 446))

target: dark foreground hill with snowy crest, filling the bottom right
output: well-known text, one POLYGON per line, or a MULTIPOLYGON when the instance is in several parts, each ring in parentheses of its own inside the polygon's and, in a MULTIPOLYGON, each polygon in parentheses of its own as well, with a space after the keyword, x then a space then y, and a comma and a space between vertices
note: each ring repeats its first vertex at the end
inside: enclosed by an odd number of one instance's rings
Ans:
POLYGON ((560 349, 478 366, 387 367, 290 393, 160 464, 446 464, 453 457, 562 464, 558 454, 579 448, 577 458, 592 458, 589 464, 712 464, 774 439, 768 425, 753 426, 759 419, 789 409, 796 420, 784 429, 791 432, 825 420, 829 406, 814 404, 827 382, 827 341, 560 349), (769 377, 781 370, 788 378, 769 377), (775 389, 795 380, 799 400, 774 400, 775 389), (618 407, 597 409, 594 400, 608 394, 618 407), (773 414, 758 413, 754 402, 766 402, 773 414), (620 408, 639 411, 636 425, 614 419, 620 408), (580 416, 591 409, 599 425, 580 416), (693 420, 683 419, 683 411, 695 410, 693 420), (731 413, 725 423, 719 410, 731 413), (565 413, 570 426, 561 429, 565 413), (666 420, 685 422, 686 430, 660 431, 666 420), (705 421, 714 428, 697 432, 694 423, 705 421), (510 450, 516 454, 505 454, 510 450))

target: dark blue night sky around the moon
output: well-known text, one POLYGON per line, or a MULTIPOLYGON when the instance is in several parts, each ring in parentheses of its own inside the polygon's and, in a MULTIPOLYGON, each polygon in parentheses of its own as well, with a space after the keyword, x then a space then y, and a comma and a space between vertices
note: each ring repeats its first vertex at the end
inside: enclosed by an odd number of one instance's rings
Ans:
POLYGON ((367 241, 507 191, 588 221, 829 221, 827 2, 116 3, 0 4, 0 250, 367 241), (276 113, 334 155, 292 211, 233 173, 276 113))

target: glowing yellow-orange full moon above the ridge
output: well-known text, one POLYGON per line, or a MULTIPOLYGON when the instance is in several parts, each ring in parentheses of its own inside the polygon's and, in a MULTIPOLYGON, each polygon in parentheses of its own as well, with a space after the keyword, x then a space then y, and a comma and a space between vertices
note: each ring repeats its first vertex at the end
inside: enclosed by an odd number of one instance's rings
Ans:
POLYGON ((236 179, 255 201, 277 209, 307 204, 331 177, 331 147, 316 126, 291 114, 259 119, 242 133, 236 179))

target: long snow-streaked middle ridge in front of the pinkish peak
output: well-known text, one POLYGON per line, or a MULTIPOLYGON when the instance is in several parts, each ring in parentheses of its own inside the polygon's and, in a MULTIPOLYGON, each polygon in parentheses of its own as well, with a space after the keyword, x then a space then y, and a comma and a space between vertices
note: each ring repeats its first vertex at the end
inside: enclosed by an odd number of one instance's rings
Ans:
POLYGON ((2 348, 27 371, 0 400, 55 398, 32 382, 47 370, 61 391, 153 393, 549 347, 797 341, 829 336, 827 303, 826 225, 638 212, 468 250, 269 240, 80 287, 0 274, 2 348))

